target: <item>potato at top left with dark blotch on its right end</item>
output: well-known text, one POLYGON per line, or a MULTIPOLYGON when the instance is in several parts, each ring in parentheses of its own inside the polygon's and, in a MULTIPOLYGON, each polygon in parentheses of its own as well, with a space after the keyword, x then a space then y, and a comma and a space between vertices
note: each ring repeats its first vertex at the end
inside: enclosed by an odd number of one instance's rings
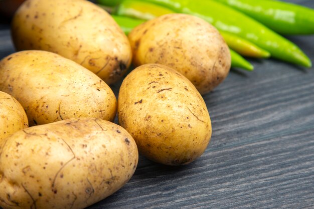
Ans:
POLYGON ((89 69, 108 85, 131 63, 127 37, 110 15, 83 0, 28 0, 12 22, 18 51, 45 50, 89 69))

